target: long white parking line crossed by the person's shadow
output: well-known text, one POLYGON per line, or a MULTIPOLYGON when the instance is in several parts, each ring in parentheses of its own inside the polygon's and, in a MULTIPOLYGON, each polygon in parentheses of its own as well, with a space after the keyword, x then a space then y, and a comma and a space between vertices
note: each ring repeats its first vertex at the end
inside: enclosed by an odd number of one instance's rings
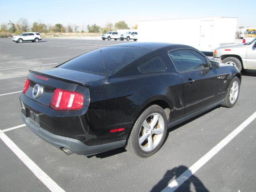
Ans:
POLYGON ((214 148, 194 163, 188 170, 182 173, 178 178, 172 181, 162 192, 174 192, 179 186, 181 186, 190 176, 192 176, 198 169, 206 164, 215 154, 217 154, 226 144, 228 144, 235 136, 237 136, 248 124, 250 124, 256 118, 256 112, 254 112, 248 119, 246 119, 240 126, 226 136, 221 142, 219 142, 214 148))

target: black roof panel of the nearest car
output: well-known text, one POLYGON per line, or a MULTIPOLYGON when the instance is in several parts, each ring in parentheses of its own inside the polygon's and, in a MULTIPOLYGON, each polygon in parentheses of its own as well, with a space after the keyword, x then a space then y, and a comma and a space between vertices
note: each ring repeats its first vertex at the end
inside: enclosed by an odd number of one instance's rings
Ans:
POLYGON ((172 44, 172 43, 160 43, 160 42, 132 42, 132 43, 122 43, 122 44, 116 44, 112 46, 124 46, 124 47, 138 47, 138 48, 144 48, 148 50, 157 50, 164 47, 170 47, 173 49, 176 48, 192 48, 188 45, 181 45, 181 44, 172 44))

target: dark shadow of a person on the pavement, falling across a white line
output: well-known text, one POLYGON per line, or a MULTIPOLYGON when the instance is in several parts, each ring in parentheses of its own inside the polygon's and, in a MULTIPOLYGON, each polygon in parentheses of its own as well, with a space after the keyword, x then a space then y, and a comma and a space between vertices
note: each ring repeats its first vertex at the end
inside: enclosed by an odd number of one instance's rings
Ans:
MULTIPOLYGON (((168 186, 168 183, 170 182, 170 180, 175 180, 176 178, 178 178, 182 173, 184 173, 186 170, 188 170, 188 168, 186 166, 179 166, 179 167, 175 167, 172 170, 168 170, 166 171, 166 173, 164 174, 164 177, 162 178, 162 180, 160 180, 158 182, 158 184, 156 184, 152 190, 150 192, 159 192, 162 191, 164 188, 166 188, 168 186)), ((193 184, 195 191, 196 192, 209 192, 209 190, 204 186, 204 184, 200 181, 200 179, 198 179, 196 176, 192 175, 190 176, 192 173, 190 172, 190 170, 188 170, 186 172, 185 177, 187 178, 187 180, 184 183, 181 183, 179 180, 177 180, 177 185, 179 186, 175 192, 190 192, 190 185, 193 184), (180 182, 180 183, 179 183, 180 182)), ((177 186, 176 185, 176 186, 177 186)), ((169 188, 167 191, 173 191, 174 188, 169 188)))

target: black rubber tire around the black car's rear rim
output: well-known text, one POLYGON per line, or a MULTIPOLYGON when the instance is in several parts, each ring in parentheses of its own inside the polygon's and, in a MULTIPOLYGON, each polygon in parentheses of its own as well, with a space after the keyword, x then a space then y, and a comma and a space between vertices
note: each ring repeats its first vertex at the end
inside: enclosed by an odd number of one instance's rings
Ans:
MULTIPOLYGON (((158 123, 158 121, 157 121, 157 123, 158 123)), ((152 105, 152 106, 148 107, 146 110, 144 110, 144 112, 142 112, 142 114, 138 117, 134 126, 132 127, 130 136, 129 136, 129 138, 127 140, 127 144, 125 146, 126 150, 131 152, 134 155, 141 157, 141 158, 146 158, 146 157, 153 155, 161 148, 161 146, 165 140, 165 137, 166 137, 167 128, 168 128, 167 118, 166 118, 166 113, 164 112, 163 108, 161 108, 158 105, 152 105), (151 151, 144 151, 144 150, 142 150, 142 148, 140 147, 140 144, 139 144, 139 135, 140 135, 140 130, 141 130, 140 128, 142 127, 144 120, 146 120, 147 117, 149 117, 153 113, 158 113, 162 116, 162 120, 164 121, 164 130, 161 135, 162 138, 159 140, 159 142, 155 146, 155 148, 153 148, 151 151)), ((157 135, 154 135, 154 136, 157 136, 157 135)), ((155 140, 153 139, 153 143, 154 143, 154 141, 155 140)))

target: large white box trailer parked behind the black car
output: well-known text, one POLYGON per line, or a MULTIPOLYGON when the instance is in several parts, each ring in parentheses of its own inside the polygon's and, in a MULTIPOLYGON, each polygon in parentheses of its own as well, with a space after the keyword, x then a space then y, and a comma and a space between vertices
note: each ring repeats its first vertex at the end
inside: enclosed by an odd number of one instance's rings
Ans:
POLYGON ((214 51, 235 42, 236 26, 234 17, 139 21, 138 41, 185 44, 200 51, 214 51))

